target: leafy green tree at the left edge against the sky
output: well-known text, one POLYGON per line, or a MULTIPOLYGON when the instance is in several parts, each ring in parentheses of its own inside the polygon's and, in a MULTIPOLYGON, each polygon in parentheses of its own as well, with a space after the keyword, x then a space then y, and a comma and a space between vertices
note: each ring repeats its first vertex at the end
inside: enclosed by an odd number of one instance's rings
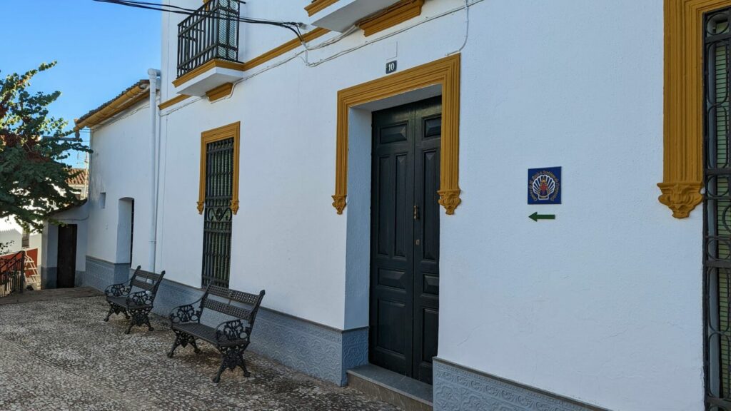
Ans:
POLYGON ((75 173, 63 160, 72 150, 90 152, 80 139, 67 138, 67 121, 48 116, 60 91, 27 91, 34 75, 55 65, 0 78, 0 218, 31 230, 40 230, 54 210, 78 202, 67 183, 75 173))

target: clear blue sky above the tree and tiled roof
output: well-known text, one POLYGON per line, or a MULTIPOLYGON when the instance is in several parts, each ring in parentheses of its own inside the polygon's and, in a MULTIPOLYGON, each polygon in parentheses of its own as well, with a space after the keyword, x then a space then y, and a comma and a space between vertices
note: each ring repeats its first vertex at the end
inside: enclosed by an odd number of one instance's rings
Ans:
MULTIPOLYGON (((92 0, 0 0, 0 17, 0 75, 58 61, 31 91, 61 91, 50 115, 69 127, 160 66, 160 12, 92 0)), ((72 154, 68 162, 82 167, 83 159, 72 154)))

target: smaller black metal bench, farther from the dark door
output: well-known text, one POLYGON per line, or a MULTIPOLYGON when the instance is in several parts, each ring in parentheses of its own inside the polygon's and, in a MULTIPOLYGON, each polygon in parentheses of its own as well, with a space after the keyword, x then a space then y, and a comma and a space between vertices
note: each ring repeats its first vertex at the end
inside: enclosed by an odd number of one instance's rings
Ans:
POLYGON ((148 330, 152 331, 150 325, 149 314, 152 311, 153 303, 157 288, 160 287, 162 277, 165 272, 160 274, 143 271, 140 265, 137 265, 135 274, 128 282, 121 284, 112 284, 104 291, 107 295, 107 303, 109 303, 109 312, 105 321, 109 321, 110 315, 124 314, 129 320, 129 327, 125 333, 129 334, 133 325, 147 325, 148 330), (135 291, 132 290, 140 289, 135 291), (132 318, 130 319, 130 316, 132 318))

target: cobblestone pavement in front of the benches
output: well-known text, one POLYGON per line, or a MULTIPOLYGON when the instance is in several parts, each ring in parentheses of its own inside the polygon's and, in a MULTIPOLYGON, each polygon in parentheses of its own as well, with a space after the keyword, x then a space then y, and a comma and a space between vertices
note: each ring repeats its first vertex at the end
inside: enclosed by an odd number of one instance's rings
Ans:
POLYGON ((395 411, 251 352, 251 377, 227 371, 216 385, 213 347, 167 358, 166 320, 125 335, 124 316, 102 321, 107 308, 103 297, 0 305, 0 410, 395 411))

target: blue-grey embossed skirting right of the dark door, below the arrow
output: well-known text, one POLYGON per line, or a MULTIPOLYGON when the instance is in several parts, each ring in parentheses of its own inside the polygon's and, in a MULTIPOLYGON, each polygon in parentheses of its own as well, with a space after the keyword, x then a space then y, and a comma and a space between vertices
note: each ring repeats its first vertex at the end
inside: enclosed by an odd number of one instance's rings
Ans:
POLYGON ((606 411, 434 358, 434 411, 606 411))

